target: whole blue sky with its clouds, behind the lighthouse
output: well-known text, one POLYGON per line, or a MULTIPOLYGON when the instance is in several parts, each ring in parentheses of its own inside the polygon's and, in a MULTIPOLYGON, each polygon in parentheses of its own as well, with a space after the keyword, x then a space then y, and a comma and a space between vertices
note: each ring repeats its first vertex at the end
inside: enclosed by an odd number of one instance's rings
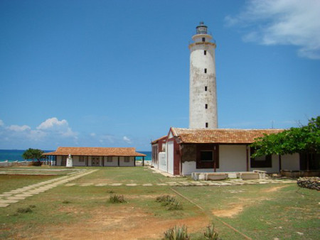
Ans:
POLYGON ((217 43, 219 128, 320 114, 320 1, 0 1, 0 148, 133 146, 188 127, 189 50, 217 43))

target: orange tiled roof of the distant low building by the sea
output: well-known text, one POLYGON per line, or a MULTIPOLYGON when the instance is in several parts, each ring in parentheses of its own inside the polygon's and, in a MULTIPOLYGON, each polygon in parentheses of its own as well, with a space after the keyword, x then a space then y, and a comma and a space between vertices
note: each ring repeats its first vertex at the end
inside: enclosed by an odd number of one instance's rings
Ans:
POLYGON ((55 152, 43 155, 69 155, 72 156, 146 156, 137 153, 136 148, 85 148, 85 147, 58 147, 55 152))

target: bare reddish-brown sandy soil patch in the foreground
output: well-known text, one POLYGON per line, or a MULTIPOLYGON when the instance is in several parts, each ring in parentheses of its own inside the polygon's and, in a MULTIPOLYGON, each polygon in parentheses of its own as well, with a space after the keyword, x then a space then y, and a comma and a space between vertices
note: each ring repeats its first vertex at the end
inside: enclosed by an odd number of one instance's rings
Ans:
MULTIPOLYGON (((65 207, 60 211, 78 213, 77 209, 65 207)), ((41 234, 28 236, 28 239, 161 239, 164 231, 174 225, 188 226, 188 233, 205 229, 209 219, 201 217, 186 219, 159 219, 143 209, 132 207, 108 207, 92 209, 91 219, 87 222, 47 226, 41 234)), ((16 236, 23 239, 23 236, 16 236)))

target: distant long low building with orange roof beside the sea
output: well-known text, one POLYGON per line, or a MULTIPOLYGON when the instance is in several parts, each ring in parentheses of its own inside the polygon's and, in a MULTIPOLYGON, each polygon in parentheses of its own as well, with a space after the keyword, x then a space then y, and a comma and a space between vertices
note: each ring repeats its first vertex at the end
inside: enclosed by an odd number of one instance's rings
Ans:
POLYGON ((73 158, 74 166, 95 167, 132 167, 136 165, 136 158, 146 156, 137 153, 136 148, 85 148, 58 147, 56 151, 44 153, 53 165, 65 166, 69 154, 73 158))

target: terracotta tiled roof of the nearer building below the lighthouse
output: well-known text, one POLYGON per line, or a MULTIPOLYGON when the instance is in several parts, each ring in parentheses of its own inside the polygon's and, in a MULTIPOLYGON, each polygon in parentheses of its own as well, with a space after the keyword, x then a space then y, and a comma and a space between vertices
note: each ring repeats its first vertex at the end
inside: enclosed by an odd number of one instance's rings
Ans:
POLYGON ((171 128, 181 143, 253 143, 264 134, 284 129, 178 129, 171 128))

